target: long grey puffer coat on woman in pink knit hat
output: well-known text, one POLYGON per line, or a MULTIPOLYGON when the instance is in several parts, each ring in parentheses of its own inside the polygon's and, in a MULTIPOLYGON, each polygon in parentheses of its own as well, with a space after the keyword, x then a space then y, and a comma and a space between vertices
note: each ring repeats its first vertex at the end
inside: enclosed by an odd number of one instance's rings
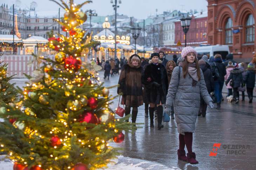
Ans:
POLYGON ((183 78, 182 68, 175 67, 171 75, 171 83, 169 85, 166 108, 170 110, 174 104, 175 120, 177 123, 178 133, 195 132, 195 123, 197 114, 200 107, 200 95, 203 100, 209 104, 213 101, 207 91, 204 82, 203 72, 200 69, 201 79, 197 82, 196 86, 192 86, 192 78, 187 74, 183 78))

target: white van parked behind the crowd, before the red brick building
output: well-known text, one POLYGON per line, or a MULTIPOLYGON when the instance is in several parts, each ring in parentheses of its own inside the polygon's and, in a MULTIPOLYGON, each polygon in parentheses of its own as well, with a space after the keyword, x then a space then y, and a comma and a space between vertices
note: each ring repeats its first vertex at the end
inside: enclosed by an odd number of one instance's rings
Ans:
POLYGON ((220 54, 222 59, 226 59, 226 56, 229 54, 228 45, 203 45, 199 47, 195 47, 198 58, 202 58, 203 55, 207 55, 208 58, 210 56, 215 56, 216 54, 220 54))

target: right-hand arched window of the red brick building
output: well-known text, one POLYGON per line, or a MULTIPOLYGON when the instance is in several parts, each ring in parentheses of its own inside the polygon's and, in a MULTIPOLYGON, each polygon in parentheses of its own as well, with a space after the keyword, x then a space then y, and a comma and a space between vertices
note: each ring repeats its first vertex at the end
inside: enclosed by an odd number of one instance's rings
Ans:
POLYGON ((245 42, 254 42, 254 26, 254 17, 252 16, 252 14, 250 14, 245 24, 245 42))

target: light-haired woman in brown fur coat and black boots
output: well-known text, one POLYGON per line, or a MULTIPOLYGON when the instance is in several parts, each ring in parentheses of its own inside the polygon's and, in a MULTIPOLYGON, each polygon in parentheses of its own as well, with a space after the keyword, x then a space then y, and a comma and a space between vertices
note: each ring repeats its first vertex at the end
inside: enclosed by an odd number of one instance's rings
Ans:
POLYGON ((143 105, 142 98, 143 67, 137 54, 129 57, 128 64, 123 65, 117 87, 117 94, 122 95, 121 104, 125 105, 125 115, 132 110, 132 123, 136 122, 138 107, 143 105))

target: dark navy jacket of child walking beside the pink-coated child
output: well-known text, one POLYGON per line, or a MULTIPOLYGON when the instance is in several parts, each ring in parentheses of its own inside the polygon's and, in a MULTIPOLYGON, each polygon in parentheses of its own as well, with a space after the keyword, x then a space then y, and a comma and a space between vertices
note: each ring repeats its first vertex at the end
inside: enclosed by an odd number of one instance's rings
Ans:
POLYGON ((241 84, 243 84, 242 72, 243 71, 238 68, 235 68, 234 70, 230 71, 230 75, 227 79, 227 82, 229 82, 232 79, 233 80, 233 88, 238 88, 241 86, 241 84))

